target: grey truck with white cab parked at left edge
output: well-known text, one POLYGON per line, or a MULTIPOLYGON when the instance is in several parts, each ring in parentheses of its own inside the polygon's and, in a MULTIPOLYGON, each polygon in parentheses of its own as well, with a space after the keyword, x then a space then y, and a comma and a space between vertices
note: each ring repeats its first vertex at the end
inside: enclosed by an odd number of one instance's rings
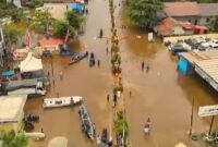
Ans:
POLYGON ((23 81, 10 81, 5 85, 1 86, 0 95, 27 95, 27 96, 44 96, 46 89, 43 81, 23 79, 23 81))

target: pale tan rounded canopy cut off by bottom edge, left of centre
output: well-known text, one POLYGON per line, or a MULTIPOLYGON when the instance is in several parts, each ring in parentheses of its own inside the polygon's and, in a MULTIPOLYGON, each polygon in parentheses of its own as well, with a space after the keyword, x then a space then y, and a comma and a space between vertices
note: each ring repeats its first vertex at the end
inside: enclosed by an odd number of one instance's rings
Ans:
POLYGON ((68 139, 65 137, 56 137, 49 142, 48 147, 68 147, 68 139))

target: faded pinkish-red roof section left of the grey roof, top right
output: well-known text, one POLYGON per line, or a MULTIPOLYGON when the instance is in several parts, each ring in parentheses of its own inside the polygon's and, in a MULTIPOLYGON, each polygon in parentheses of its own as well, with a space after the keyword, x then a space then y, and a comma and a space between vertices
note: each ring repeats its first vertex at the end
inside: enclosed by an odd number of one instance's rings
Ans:
POLYGON ((198 16, 201 11, 196 2, 165 2, 168 16, 198 16))

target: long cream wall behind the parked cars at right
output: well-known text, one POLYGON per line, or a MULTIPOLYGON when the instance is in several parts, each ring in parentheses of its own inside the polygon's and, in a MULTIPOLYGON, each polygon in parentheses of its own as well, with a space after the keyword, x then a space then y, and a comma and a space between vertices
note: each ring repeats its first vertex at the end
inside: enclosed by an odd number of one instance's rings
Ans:
POLYGON ((166 41, 177 42, 178 40, 184 40, 184 39, 189 39, 189 38, 199 38, 199 37, 205 37, 205 36, 213 38, 213 39, 218 39, 218 34, 206 34, 206 35, 164 37, 164 42, 166 42, 166 41))

